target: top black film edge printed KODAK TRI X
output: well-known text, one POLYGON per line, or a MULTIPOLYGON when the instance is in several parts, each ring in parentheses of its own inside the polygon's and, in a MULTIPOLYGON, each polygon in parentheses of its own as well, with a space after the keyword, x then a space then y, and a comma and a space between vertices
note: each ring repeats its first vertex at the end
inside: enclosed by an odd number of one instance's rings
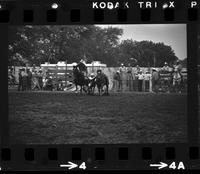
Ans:
MULTIPOLYGON (((185 23, 190 21, 198 22, 199 18, 198 7, 190 8, 190 3, 192 2, 191 0, 183 0, 182 2, 174 0, 176 5, 175 8, 164 9, 161 6, 165 4, 165 2, 169 3, 172 1, 156 1, 158 3, 158 8, 138 8, 133 6, 131 3, 132 1, 130 0, 119 0, 118 2, 129 2, 130 8, 117 9, 92 9, 92 2, 101 1, 0 1, 0 23, 12 25, 64 25, 76 23, 185 23), (53 8, 54 4, 57 4, 57 8, 53 8)), ((107 1, 105 0, 102 2, 107 1)), ((114 3, 115 1, 111 0, 109 2, 114 3)))

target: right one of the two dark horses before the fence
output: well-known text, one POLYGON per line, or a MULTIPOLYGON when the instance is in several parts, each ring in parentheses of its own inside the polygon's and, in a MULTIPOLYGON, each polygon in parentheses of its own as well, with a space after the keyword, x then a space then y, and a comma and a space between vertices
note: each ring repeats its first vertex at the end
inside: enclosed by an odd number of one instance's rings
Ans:
POLYGON ((98 88, 99 95, 102 94, 104 86, 106 86, 106 91, 104 94, 109 95, 108 93, 109 80, 108 80, 108 77, 104 73, 101 72, 101 70, 97 71, 97 76, 95 77, 95 84, 98 88))

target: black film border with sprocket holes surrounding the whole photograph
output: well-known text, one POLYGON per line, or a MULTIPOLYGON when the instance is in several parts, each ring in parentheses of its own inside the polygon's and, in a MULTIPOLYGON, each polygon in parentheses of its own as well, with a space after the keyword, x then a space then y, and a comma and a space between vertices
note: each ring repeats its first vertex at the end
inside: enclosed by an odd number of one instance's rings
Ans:
MULTIPOLYGON (((189 77, 189 87, 188 87, 188 116, 187 116, 187 126, 188 126, 188 142, 180 144, 101 144, 101 145, 9 145, 9 125, 3 124, 8 123, 8 118, 1 118, 1 168, 4 170, 38 170, 38 169, 58 169, 58 164, 62 161, 84 161, 88 163, 87 168, 91 170, 99 169, 150 169, 150 161, 159 160, 182 160, 190 164, 191 168, 199 169, 199 133, 198 133, 198 92, 195 80, 197 79, 197 35, 198 35, 198 9, 187 9, 184 4, 181 5, 182 8, 172 10, 174 11, 173 20, 165 20, 165 13, 162 9, 134 9, 131 11, 129 9, 119 9, 119 10, 93 10, 88 11, 88 4, 83 3, 77 5, 71 5, 71 3, 65 4, 63 9, 52 11, 50 8, 50 3, 47 1, 40 7, 31 4, 18 4, 18 1, 9 2, 9 22, 0 22, 0 50, 2 52, 2 57, 7 57, 7 27, 8 25, 81 25, 81 24, 156 24, 156 23, 186 23, 187 24, 187 55, 191 59, 188 59, 188 77, 189 77), (13 4, 14 3, 14 4, 13 4), (47 5, 49 4, 49 5, 47 5), (19 7, 19 8, 18 8, 19 7), (68 8, 69 7, 69 8, 68 8), (45 9, 45 10, 44 10, 45 9), (50 12, 48 11, 50 10, 50 12), (26 11, 26 12, 25 12, 26 11), (32 12, 33 11, 33 12, 32 12), (157 15, 160 12, 162 15, 157 15), (48 22, 48 13, 50 14, 50 20, 55 19, 55 14, 57 19, 55 22, 48 22), (79 13, 77 15, 77 13, 79 13), (97 15, 103 16, 99 19, 95 19, 95 13, 97 15), (150 19, 142 18, 142 15, 151 14, 150 19), (14 15, 15 14, 15 15, 14 15), (16 15, 17 14, 17 15, 16 15), (33 22, 29 21, 30 17, 24 17, 23 14, 27 16, 33 16, 33 22), (39 15, 39 14, 42 14, 39 15), (65 14, 63 16, 63 14, 65 14), (67 15, 68 14, 68 15, 67 15), (84 14, 84 18, 82 15, 84 14), (103 15, 102 15, 103 14, 103 15), (119 14, 122 14, 121 17, 119 14), (191 15, 192 14, 192 15, 191 15), (13 18, 15 16, 15 18, 13 18), (67 16, 67 19, 65 18, 67 16), (78 17, 76 17, 78 16, 78 17), (192 17, 191 17, 192 16, 192 17), (194 16, 194 17, 193 17, 194 16), (121 19, 119 19, 121 18, 121 19), (189 20, 189 19, 192 20, 189 20), (25 20, 26 19, 26 20, 25 20), (125 20, 124 20, 125 19, 125 20), (163 20, 164 19, 164 20, 163 20), (196 20, 195 20, 196 19, 196 20), (24 22, 24 20, 26 22, 24 22), (102 20, 102 21, 101 21, 102 20), (28 22, 27 22, 28 21, 28 22), (196 103, 195 103, 196 102, 196 103), (5 130, 7 130, 5 132, 5 130), (114 149, 113 149, 114 147, 114 149), (73 150, 75 148, 75 150, 73 150), (97 148, 97 150, 95 150, 97 148), (56 150, 55 150, 56 149, 56 150), (109 152, 109 153, 108 153, 109 152), (111 152, 111 153, 110 153, 111 152), (138 153, 139 152, 139 153, 138 153), (186 152, 184 155, 182 152, 186 152), (95 157, 97 154, 97 159, 95 157), (10 155, 9 155, 10 154, 10 155), (13 155, 16 154, 16 155, 13 155), (24 154, 27 159, 25 159, 24 154), (56 155, 57 154, 57 155, 56 155), (63 154, 66 154, 63 157, 63 154), (7 156, 10 156, 7 158, 7 156), (57 156, 57 158, 56 158, 57 156), (113 156, 115 159, 113 159, 113 156), (57 159, 57 160, 56 160, 57 159), (12 162, 14 160, 14 162, 12 162), (9 162, 8 162, 9 161, 9 162), (21 163, 22 162, 22 163, 21 163), (59 162, 59 163, 58 163, 59 162), (134 164, 134 166, 133 166, 134 164), (24 166, 25 165, 25 166, 24 166), (38 167, 37 167, 38 165, 38 167), (50 166, 53 167, 51 168, 50 166), (93 167, 91 167, 93 165, 93 167), (94 168, 97 165, 98 168, 94 168)), ((35 1, 34 1, 35 2, 35 1)), ((86 1, 88 2, 88 1, 86 1)), ((40 2, 40 4, 43 2, 40 2)), ((7 13, 7 12, 6 12, 7 13)), ((169 13, 169 12, 166 12, 169 13)), ((1 13, 0 13, 1 16, 1 13)), ((171 19, 172 17, 170 17, 171 19)), ((1 17, 0 17, 1 19, 1 17)), ((1 21, 1 20, 0 20, 1 21)), ((1 79, 2 81, 7 81, 7 60, 4 58, 1 65, 1 79)), ((7 91, 6 85, 0 85, 0 90, 3 99, 8 96, 5 93, 7 91)), ((8 115, 8 105, 7 102, 1 104, 2 113, 8 115)), ((156 162, 157 162, 156 161, 156 162)))

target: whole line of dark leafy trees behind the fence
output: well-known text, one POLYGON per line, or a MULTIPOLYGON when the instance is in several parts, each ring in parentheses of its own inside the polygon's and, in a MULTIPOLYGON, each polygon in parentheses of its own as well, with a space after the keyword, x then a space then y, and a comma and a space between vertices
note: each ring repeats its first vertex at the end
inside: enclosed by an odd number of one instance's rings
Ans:
MULTIPOLYGON (((95 25, 12 26, 8 30, 9 65, 68 63, 86 59, 107 66, 163 66, 178 59, 171 46, 152 41, 120 41, 123 29, 95 25)), ((134 33, 133 33, 134 37, 134 33)))

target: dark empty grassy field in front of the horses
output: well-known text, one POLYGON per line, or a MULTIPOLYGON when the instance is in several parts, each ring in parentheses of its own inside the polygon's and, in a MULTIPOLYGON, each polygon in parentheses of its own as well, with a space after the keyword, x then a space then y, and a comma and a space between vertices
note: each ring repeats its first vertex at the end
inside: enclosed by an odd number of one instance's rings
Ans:
POLYGON ((184 143, 186 120, 186 94, 9 93, 12 144, 184 143))

